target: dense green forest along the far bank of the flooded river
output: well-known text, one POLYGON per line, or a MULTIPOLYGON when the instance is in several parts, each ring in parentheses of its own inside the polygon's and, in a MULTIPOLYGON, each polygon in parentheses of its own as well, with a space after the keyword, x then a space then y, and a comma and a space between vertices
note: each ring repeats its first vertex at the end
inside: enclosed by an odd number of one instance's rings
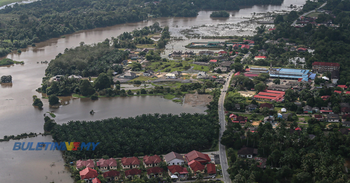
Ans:
POLYGON ((12 49, 93 29, 152 17, 194 17, 200 9, 237 10, 239 5, 280 4, 282 0, 41 0, 0 10, 0 56, 12 49), (145 5, 145 2, 147 5, 145 5), (191 4, 193 2, 193 4, 191 4), (224 5, 224 6, 223 6, 224 5))

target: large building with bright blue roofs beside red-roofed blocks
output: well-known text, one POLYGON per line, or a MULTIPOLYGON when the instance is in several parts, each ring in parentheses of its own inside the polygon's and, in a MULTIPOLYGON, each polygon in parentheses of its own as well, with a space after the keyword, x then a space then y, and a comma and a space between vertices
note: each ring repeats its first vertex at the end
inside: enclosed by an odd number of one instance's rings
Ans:
POLYGON ((269 69, 268 73, 271 78, 280 78, 280 79, 294 79, 299 78, 308 78, 310 70, 306 69, 269 69))

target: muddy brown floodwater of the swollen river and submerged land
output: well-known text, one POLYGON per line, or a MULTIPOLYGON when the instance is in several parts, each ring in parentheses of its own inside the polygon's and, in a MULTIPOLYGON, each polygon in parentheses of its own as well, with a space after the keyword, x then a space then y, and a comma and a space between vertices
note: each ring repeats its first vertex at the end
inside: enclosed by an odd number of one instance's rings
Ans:
MULTIPOLYGON (((59 108, 49 108, 48 100, 42 99, 44 109, 39 110, 33 107, 32 96, 41 97, 41 93, 35 91, 41 86, 47 64, 41 61, 50 61, 58 53, 63 53, 65 48, 79 46, 81 41, 85 44, 92 44, 103 41, 106 38, 117 37, 125 31, 132 31, 135 28, 152 25, 159 22, 161 26, 168 25, 172 36, 182 36, 182 41, 172 41, 167 45, 164 54, 172 49, 185 50, 184 45, 192 41, 222 41, 223 39, 187 39, 179 32, 183 29, 194 29, 200 35, 252 35, 256 23, 241 23, 253 16, 253 13, 266 13, 273 11, 290 11, 290 4, 302 6, 305 0, 285 0, 282 5, 264 5, 246 7, 239 11, 231 11, 229 18, 210 18, 211 11, 201 11, 197 17, 172 17, 153 18, 144 22, 127 23, 106 28, 84 30, 65 35, 65 38, 53 38, 36 47, 21 49, 22 53, 11 53, 6 56, 16 61, 24 61, 24 65, 13 65, 0 67, 0 76, 12 75, 13 83, 1 84, 0 87, 0 138, 4 135, 18 135, 24 132, 43 132, 43 115, 45 112, 53 112, 57 123, 65 123, 70 120, 99 120, 109 117, 128 117, 144 113, 203 113, 204 107, 192 107, 186 104, 179 104, 159 96, 133 96, 99 98, 96 101, 90 99, 79 99, 72 97, 61 97, 65 105, 59 108), (205 25, 205 26, 202 26, 205 25), (37 63, 39 62, 39 63, 37 63), (90 115, 90 110, 96 113, 90 115)), ((261 16, 261 15, 255 15, 261 16)), ((47 114, 47 113, 46 113, 47 114)), ((33 141, 49 142, 50 136, 27 138, 23 142, 33 141)), ((13 180, 26 180, 26 182, 73 182, 65 171, 63 160, 58 151, 12 151, 15 140, 0 143, 0 168, 1 182, 13 182, 13 180), (1 147, 3 149, 1 150, 1 147), (54 167, 50 163, 56 162, 54 167), (59 174, 58 174, 59 173, 59 174), (45 176, 48 176, 46 178, 45 176)))

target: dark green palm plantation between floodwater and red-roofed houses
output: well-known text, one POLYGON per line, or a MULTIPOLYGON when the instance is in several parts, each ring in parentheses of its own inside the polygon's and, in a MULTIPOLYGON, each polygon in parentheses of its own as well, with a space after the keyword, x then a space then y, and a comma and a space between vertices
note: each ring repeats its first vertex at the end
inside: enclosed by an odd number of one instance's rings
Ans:
POLYGON ((70 121, 51 130, 58 142, 100 142, 94 151, 69 151, 74 157, 93 158, 121 153, 165 154, 210 149, 217 143, 219 125, 205 114, 142 114, 122 119, 70 121))

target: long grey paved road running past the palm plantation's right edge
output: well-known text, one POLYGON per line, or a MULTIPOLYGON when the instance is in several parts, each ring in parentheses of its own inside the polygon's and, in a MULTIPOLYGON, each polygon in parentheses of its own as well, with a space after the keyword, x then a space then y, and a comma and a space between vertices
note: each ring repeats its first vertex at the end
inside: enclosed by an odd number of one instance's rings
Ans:
POLYGON ((221 92, 220 98, 219 98, 219 122, 221 124, 220 127, 220 132, 219 132, 219 155, 220 155, 220 164, 221 164, 221 169, 222 169, 222 174, 224 178, 224 183, 231 183, 231 179, 229 174, 227 173, 228 164, 227 164, 227 157, 226 157, 226 151, 225 151, 225 146, 222 145, 221 142, 221 137, 223 132, 225 131, 225 111, 224 111, 224 99, 226 95, 226 91, 229 87, 230 80, 232 77, 233 71, 230 72, 230 76, 228 77, 228 80, 226 81, 224 88, 221 92))

